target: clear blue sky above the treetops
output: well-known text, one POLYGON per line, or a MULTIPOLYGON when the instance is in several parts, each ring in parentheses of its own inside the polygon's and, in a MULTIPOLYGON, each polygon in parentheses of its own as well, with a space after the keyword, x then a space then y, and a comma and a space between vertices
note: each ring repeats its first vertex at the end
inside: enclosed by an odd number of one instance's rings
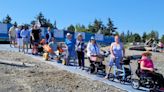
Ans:
POLYGON ((7 14, 19 24, 30 23, 42 12, 62 29, 70 24, 107 23, 110 17, 119 32, 142 34, 156 30, 164 35, 164 0, 0 0, 0 20, 7 14))

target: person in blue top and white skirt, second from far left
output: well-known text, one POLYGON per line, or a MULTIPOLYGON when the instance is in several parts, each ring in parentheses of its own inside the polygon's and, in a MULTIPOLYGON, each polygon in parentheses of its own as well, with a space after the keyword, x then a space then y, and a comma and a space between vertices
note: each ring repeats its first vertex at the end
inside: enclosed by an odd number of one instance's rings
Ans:
POLYGON ((17 40, 17 46, 18 46, 19 52, 22 47, 21 30, 22 30, 22 26, 18 26, 18 28, 16 28, 16 40, 17 40))

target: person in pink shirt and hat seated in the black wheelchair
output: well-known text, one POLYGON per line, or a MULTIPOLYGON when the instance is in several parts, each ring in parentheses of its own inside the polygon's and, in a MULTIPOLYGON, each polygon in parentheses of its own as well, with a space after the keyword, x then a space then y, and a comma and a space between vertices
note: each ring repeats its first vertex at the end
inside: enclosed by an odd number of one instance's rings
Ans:
POLYGON ((142 54, 141 60, 138 62, 140 66, 140 74, 137 74, 141 77, 150 77, 154 82, 158 83, 158 86, 164 87, 164 78, 160 73, 155 72, 154 63, 151 60, 152 54, 150 52, 144 52, 142 54))

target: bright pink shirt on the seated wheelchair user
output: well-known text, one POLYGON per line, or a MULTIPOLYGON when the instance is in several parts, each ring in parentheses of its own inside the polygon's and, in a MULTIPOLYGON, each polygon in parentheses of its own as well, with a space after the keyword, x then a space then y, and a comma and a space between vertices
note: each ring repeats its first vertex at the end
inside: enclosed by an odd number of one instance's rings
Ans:
POLYGON ((154 68, 153 61, 145 56, 142 56, 142 59, 140 62, 144 62, 144 67, 154 68))

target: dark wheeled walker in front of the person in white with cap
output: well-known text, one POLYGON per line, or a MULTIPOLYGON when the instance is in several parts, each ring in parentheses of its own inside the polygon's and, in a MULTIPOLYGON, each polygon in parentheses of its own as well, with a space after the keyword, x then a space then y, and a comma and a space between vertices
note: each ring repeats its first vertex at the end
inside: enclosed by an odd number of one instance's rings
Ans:
POLYGON ((109 56, 109 52, 103 51, 103 54, 100 56, 95 56, 93 58, 89 58, 90 61, 90 67, 89 72, 92 73, 98 73, 99 71, 102 71, 102 73, 105 75, 105 65, 103 64, 104 58, 109 56))

